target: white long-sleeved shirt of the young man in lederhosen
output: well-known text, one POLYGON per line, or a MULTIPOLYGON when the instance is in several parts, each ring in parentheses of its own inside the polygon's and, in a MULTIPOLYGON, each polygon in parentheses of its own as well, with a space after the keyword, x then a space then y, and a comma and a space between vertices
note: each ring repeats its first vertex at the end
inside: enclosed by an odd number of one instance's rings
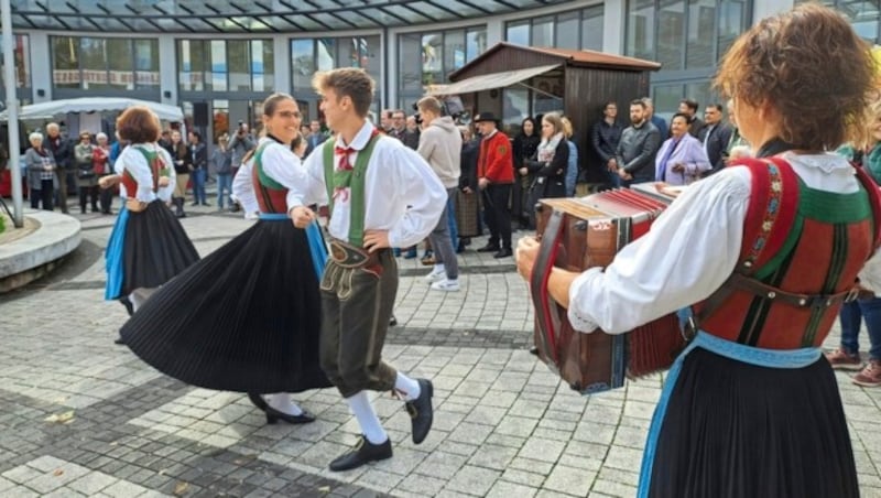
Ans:
MULTIPOLYGON (((366 122, 355 136, 351 148, 363 150, 373 130, 373 124, 366 122)), ((337 145, 347 147, 339 137, 337 145)), ((327 204, 324 147, 327 145, 319 147, 306 158, 302 182, 291 187, 287 194, 289 207, 327 204)), ((355 166, 359 153, 349 154, 349 164, 355 166)), ((334 153, 334 167, 339 160, 340 156, 334 153)), ((349 239, 350 199, 351 195, 337 196, 327 227, 333 237, 346 241, 349 239)), ((393 138, 379 138, 365 178, 366 230, 389 230, 389 243, 392 247, 413 246, 431 234, 446 202, 446 188, 416 151, 393 138)))

